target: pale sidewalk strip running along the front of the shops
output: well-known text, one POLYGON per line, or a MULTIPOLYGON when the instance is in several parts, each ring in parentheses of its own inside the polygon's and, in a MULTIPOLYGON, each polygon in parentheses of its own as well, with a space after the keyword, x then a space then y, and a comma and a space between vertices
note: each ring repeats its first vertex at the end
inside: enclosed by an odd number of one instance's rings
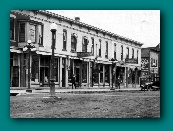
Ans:
MULTIPOLYGON (((31 88, 32 89, 32 88, 31 88)), ((139 86, 137 86, 136 88, 124 88, 124 87, 120 87, 120 89, 115 89, 111 90, 111 88, 83 88, 83 89, 61 89, 61 88, 56 88, 55 92, 56 93, 109 93, 109 92, 115 92, 115 91, 138 91, 141 90, 141 88, 139 86)), ((50 92, 50 88, 49 87, 45 87, 44 89, 32 89, 32 93, 34 94, 40 94, 40 93, 49 93, 50 92)), ((18 93, 18 94, 29 94, 28 92, 26 92, 26 88, 24 89, 10 89, 10 94, 11 93, 18 93)))

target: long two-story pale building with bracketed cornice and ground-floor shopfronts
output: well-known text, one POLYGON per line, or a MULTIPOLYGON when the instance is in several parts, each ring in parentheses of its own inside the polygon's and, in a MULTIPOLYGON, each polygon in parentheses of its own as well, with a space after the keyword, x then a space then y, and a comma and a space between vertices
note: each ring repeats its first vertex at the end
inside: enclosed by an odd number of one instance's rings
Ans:
POLYGON ((49 87, 52 34, 55 23, 54 78, 56 88, 71 88, 76 75, 78 88, 107 88, 115 84, 139 83, 142 43, 94 26, 43 10, 10 12, 10 87, 49 87), (31 49, 28 65, 27 41, 31 49))

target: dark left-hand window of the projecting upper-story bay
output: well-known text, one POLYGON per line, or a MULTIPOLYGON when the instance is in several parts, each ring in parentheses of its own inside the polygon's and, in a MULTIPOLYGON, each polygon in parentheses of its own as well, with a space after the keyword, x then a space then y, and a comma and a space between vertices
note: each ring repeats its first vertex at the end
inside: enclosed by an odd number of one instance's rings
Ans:
POLYGON ((25 42, 26 40, 26 36, 25 36, 25 32, 26 32, 26 28, 25 28, 26 23, 20 23, 19 24, 19 42, 25 42))

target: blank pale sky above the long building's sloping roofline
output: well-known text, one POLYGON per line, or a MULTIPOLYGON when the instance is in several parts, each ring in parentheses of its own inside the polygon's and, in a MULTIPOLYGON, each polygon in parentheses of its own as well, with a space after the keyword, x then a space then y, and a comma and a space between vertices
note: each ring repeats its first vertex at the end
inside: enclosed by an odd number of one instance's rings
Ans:
POLYGON ((154 47, 160 43, 160 10, 48 10, 154 47))

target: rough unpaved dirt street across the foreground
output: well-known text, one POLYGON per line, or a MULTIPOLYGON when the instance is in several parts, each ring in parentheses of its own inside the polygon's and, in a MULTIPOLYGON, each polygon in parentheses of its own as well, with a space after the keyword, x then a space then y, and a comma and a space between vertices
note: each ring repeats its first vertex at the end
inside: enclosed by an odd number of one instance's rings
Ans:
POLYGON ((11 118, 159 118, 160 91, 10 97, 11 118))

